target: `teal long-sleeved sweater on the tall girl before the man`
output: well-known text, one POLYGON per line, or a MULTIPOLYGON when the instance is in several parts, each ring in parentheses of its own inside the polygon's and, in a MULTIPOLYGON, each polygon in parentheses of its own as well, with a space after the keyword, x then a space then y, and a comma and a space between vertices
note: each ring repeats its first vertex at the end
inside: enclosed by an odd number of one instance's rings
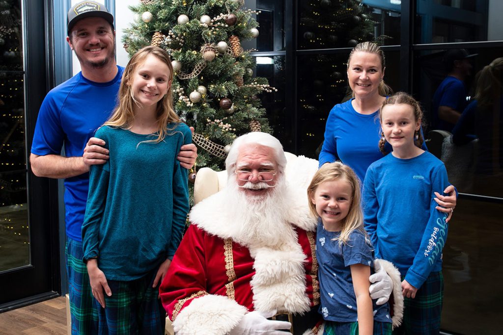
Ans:
POLYGON ((110 159, 93 165, 82 225, 83 260, 98 258, 107 279, 134 280, 172 259, 182 239, 189 192, 180 147, 191 143, 187 125, 172 123, 162 142, 104 126, 110 159), (143 143, 142 143, 143 142, 143 143))

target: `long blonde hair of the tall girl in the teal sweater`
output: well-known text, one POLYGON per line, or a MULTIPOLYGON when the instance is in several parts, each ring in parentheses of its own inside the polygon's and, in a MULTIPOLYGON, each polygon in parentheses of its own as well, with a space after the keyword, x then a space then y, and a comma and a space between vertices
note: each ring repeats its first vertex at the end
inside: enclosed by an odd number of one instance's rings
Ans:
MULTIPOLYGON (((104 126, 118 127, 130 129, 134 121, 134 104, 138 104, 135 100, 132 90, 133 76, 141 64, 145 61, 148 55, 157 57, 161 62, 165 63, 170 69, 168 82, 173 82, 173 66, 171 65, 170 55, 163 49, 154 46, 144 47, 138 50, 129 60, 124 73, 122 74, 121 86, 119 88, 119 105, 115 108, 114 113, 105 122, 104 126)), ((171 87, 167 93, 157 102, 157 139, 145 142, 161 142, 166 137, 167 124, 171 122, 180 122, 180 118, 173 109, 173 90, 171 87)))

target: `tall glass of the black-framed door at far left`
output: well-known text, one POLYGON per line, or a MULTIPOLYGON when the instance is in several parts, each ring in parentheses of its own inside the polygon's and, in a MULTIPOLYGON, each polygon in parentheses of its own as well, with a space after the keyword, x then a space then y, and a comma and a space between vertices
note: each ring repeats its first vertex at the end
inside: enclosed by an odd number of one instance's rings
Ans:
POLYGON ((30 261, 21 6, 4 3, 8 8, 1 8, 0 14, 0 271, 30 261))

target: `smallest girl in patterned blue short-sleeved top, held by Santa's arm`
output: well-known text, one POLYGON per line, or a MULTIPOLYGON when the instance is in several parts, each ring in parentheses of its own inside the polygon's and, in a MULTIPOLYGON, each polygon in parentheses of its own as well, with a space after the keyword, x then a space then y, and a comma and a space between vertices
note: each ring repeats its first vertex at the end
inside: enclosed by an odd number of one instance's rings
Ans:
POLYGON ((378 306, 369 294, 373 247, 363 228, 360 182, 340 162, 324 164, 307 196, 318 217, 320 313, 324 334, 391 334, 389 305, 378 306))

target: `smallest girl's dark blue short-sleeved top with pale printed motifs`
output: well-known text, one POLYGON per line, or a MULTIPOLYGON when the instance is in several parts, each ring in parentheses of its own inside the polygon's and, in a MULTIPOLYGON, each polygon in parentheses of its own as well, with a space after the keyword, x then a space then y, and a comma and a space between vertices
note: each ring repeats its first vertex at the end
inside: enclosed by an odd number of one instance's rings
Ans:
MULTIPOLYGON (((319 293, 321 304, 319 313, 325 320, 355 322, 358 320, 355 289, 351 276, 351 265, 370 266, 374 273, 374 257, 371 242, 360 231, 353 231, 346 244, 332 241, 341 236, 341 232, 328 232, 318 219, 316 229, 316 258, 319 270, 319 293)), ((389 305, 376 305, 372 300, 374 320, 391 322, 389 305)))

